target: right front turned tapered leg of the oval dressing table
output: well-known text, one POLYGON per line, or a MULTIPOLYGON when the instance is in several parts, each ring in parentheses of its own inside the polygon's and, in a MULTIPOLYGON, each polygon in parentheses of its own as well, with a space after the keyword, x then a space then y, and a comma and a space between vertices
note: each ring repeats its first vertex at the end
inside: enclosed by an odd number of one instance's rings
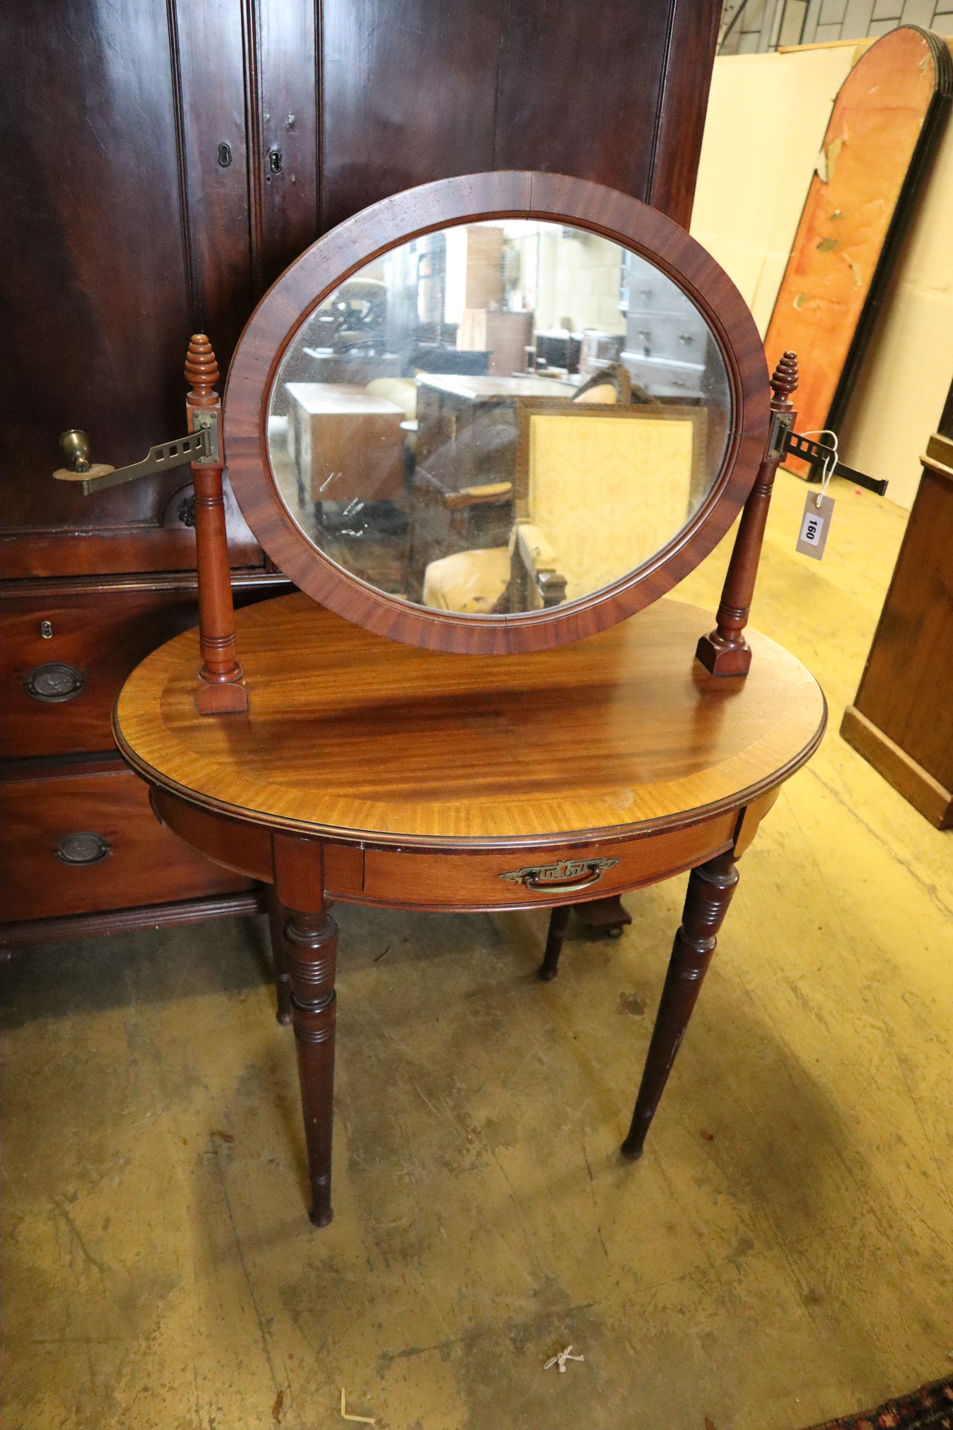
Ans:
POLYGON ((732 902, 737 869, 733 854, 720 854, 692 869, 684 899, 682 927, 674 935, 672 961, 662 990, 662 1002, 652 1030, 649 1057, 632 1114, 629 1135, 622 1144, 623 1157, 642 1157, 652 1118, 664 1091, 672 1064, 689 1025, 702 980, 717 942, 717 932, 732 902))

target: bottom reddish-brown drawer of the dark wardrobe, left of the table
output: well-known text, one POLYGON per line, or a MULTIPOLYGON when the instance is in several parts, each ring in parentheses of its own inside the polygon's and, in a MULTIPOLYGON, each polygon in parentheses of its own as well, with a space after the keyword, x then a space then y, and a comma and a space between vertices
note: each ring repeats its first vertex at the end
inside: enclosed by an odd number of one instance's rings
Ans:
POLYGON ((117 766, 0 785, 0 919, 166 904, 253 887, 156 819, 149 788, 117 766))

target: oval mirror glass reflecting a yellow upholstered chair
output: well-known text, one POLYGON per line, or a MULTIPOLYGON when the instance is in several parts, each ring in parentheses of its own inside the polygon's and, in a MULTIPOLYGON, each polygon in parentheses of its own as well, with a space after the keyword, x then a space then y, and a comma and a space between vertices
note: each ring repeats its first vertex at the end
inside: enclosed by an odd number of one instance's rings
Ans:
POLYGON ((379 591, 469 615, 577 601, 667 545, 730 426, 704 317, 583 229, 463 223, 340 285, 269 409, 287 512, 379 591))

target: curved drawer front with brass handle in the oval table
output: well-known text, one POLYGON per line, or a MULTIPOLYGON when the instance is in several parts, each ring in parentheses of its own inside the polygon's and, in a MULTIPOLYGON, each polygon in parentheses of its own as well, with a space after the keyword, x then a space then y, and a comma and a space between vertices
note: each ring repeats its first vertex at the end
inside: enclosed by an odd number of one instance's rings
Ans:
POLYGON ((517 854, 366 849, 364 899, 417 908, 532 908, 604 898, 703 864, 729 848, 737 811, 690 829, 627 842, 563 845, 517 854))

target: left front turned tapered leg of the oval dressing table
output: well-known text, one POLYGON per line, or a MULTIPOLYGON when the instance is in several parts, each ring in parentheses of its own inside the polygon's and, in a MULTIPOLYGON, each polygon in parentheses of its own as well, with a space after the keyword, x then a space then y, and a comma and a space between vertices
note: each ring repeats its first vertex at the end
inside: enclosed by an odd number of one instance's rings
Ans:
POLYGON ((291 1022, 301 1084, 311 1221, 331 1220, 331 1127, 334 1120, 334 961, 337 924, 327 912, 287 909, 284 955, 291 984, 291 1022))

